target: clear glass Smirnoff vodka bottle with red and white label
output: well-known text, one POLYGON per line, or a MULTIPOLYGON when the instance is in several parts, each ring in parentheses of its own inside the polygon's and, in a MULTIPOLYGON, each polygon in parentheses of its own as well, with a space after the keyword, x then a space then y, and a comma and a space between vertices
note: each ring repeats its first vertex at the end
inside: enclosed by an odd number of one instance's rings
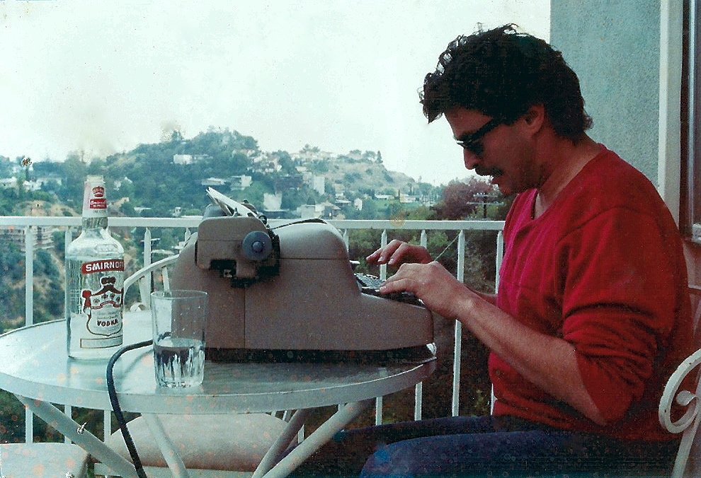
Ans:
POLYGON ((122 345, 124 249, 107 226, 102 176, 88 176, 83 227, 66 247, 68 355, 110 358, 122 345))

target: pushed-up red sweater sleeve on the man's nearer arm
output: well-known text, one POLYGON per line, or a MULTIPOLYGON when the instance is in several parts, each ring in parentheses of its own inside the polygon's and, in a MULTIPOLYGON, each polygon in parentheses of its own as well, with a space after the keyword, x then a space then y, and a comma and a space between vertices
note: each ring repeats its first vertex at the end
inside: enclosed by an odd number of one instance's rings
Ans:
POLYGON ((562 334, 609 423, 641 400, 675 320, 676 284, 654 218, 611 209, 562 240, 562 334))

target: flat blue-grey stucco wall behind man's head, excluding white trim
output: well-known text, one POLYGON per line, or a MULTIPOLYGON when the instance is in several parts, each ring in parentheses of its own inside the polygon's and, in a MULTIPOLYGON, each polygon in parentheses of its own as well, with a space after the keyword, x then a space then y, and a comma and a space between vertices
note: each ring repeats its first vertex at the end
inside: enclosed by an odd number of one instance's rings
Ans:
POLYGON ((552 0, 550 42, 579 75, 590 135, 658 185, 659 0, 552 0))

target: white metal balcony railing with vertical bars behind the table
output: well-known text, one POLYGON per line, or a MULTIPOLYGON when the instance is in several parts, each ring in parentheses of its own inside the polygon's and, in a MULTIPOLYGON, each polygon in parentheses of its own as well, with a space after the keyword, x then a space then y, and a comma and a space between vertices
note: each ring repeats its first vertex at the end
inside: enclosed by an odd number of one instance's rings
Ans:
MULTIPOLYGON (((137 228, 143 230, 144 237, 144 253, 142 264, 148 265, 152 262, 152 228, 174 228, 182 231, 183 238, 187 238, 191 232, 196 231, 200 223, 200 217, 187 218, 110 218, 110 228, 137 228)), ((283 221, 271 220, 270 225, 275 226, 283 221)), ((467 248, 466 232, 467 231, 494 231, 495 241, 494 247, 496 250, 496 271, 498 272, 501 257, 503 255, 503 221, 384 221, 384 220, 329 220, 331 225, 338 228, 343 234, 346 245, 349 242, 349 231, 371 229, 382 231, 380 235, 380 243, 377 247, 386 245, 389 240, 392 240, 393 235, 397 235, 401 231, 420 231, 420 243, 426 246, 431 233, 435 231, 457 231, 456 240, 450 243, 449 247, 455 247, 457 251, 457 267, 455 275, 458 280, 465 281, 465 251, 467 248)), ((68 244, 72 240, 74 233, 78 231, 81 225, 79 217, 45 217, 45 216, 0 216, 0 229, 13 228, 15 231, 23 230, 25 253, 25 325, 34 323, 34 303, 33 303, 33 280, 34 280, 34 255, 37 228, 49 229, 64 229, 65 243, 68 244)), ((131 272, 135 272, 134 271, 131 272)), ((127 271, 126 274, 131 273, 127 271)), ((384 279, 387 276, 386 266, 380 267, 380 277, 384 279)), ((494 288, 498 287, 498 273, 494 279, 494 288)), ((461 363, 461 339, 462 330, 460 322, 455 322, 454 334, 454 349, 453 349, 453 366, 452 366, 452 383, 451 383, 451 413, 452 416, 457 416, 460 409, 460 371, 461 363)), ((416 385, 414 390, 414 418, 421 419, 422 414, 422 397, 423 384, 416 385)), ((375 407, 375 423, 382 423, 383 404, 382 397, 377 397, 375 407)), ((66 407, 65 412, 71 413, 70 407, 66 407)), ((106 434, 110 431, 111 416, 110 412, 103 414, 103 426, 106 434)), ((0 424, 1 425, 1 424, 0 424)), ((6 425, 6 424, 5 424, 6 425)), ((33 441, 33 415, 28 410, 25 412, 25 441, 33 441)))

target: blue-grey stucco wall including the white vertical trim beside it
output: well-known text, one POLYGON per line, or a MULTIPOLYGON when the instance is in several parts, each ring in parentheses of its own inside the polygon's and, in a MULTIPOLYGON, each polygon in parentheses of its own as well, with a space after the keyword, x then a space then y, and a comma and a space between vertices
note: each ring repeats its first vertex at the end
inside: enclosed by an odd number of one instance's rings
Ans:
POLYGON ((554 0, 550 42, 576 71, 591 136, 679 214, 682 1, 554 0))

